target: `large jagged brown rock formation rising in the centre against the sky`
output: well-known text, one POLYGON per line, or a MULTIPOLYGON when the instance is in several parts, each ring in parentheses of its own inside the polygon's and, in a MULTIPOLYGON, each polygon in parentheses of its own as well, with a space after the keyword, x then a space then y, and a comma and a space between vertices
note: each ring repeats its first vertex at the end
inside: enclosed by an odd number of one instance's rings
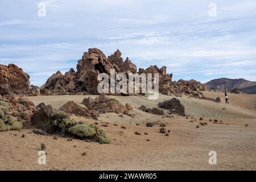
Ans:
POLYGON ((100 49, 90 48, 88 52, 84 52, 82 59, 78 61, 77 72, 71 69, 69 72, 62 75, 61 72, 56 72, 48 78, 46 84, 41 89, 41 94, 99 94, 97 86, 99 81, 97 77, 100 73, 106 73, 110 76, 110 70, 114 69, 115 74, 129 73, 142 74, 148 73, 159 74, 159 92, 163 94, 174 94, 175 96, 187 96, 204 98, 201 90, 207 90, 207 86, 201 85, 195 80, 184 81, 179 80, 172 82, 172 74, 166 73, 166 67, 158 68, 156 65, 151 65, 147 69, 139 68, 133 64, 127 57, 123 61, 122 53, 117 49, 113 55, 106 56, 100 49))

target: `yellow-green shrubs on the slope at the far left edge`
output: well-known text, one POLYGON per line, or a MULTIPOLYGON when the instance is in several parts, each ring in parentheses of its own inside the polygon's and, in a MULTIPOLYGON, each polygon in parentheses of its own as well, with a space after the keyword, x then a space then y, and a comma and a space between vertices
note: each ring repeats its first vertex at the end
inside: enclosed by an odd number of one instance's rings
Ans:
POLYGON ((9 104, 0 100, 0 131, 19 130, 22 123, 9 113, 9 104))

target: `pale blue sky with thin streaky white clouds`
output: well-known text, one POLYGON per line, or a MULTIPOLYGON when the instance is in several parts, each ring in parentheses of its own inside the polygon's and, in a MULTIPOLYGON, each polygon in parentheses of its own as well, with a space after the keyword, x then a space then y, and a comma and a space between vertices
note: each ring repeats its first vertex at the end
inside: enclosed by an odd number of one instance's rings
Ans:
POLYGON ((93 47, 119 49, 137 68, 166 65, 173 80, 256 81, 255 0, 0 1, 0 35, 0 64, 18 65, 38 86, 93 47))

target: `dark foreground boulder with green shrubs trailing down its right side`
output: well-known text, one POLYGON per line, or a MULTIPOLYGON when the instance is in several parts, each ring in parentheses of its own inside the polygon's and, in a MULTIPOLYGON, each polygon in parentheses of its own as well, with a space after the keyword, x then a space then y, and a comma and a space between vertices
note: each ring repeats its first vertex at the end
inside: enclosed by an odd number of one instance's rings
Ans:
POLYGON ((106 133, 95 124, 77 122, 69 114, 54 109, 51 105, 39 104, 31 123, 48 134, 71 135, 79 139, 91 139, 100 143, 110 143, 106 133))

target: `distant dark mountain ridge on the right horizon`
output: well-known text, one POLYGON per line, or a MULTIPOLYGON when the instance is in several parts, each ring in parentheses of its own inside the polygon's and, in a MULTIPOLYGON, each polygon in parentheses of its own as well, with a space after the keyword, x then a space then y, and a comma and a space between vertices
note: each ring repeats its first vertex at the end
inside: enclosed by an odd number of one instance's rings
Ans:
POLYGON ((229 91, 232 91, 234 88, 238 88, 242 93, 256 94, 256 81, 249 81, 243 78, 218 78, 210 80, 203 85, 206 85, 210 90, 227 88, 229 91))

